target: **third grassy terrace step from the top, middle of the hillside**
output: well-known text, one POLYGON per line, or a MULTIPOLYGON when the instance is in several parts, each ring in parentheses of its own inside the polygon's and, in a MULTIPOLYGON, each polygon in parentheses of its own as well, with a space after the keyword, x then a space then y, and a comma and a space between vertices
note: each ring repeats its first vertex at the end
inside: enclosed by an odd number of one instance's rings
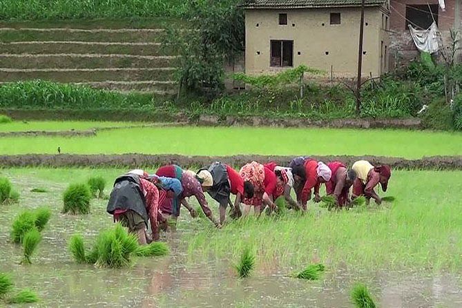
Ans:
POLYGON ((175 56, 0 54, 0 68, 166 68, 175 56))

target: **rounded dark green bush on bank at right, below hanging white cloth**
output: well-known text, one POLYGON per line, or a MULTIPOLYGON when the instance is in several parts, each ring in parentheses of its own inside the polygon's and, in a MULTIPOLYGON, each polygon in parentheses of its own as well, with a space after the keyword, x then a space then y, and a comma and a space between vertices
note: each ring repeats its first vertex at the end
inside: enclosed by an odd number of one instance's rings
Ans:
POLYGON ((432 102, 425 110, 422 117, 422 125, 424 128, 450 131, 452 130, 453 113, 445 102, 445 99, 439 99, 432 102))

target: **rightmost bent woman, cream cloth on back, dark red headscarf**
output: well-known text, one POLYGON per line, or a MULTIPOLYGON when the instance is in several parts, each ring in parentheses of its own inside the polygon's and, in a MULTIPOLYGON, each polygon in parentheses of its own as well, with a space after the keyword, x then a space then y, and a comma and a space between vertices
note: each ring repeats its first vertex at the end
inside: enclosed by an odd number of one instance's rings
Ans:
POLYGON ((387 191, 392 169, 387 165, 373 166, 366 160, 358 160, 353 164, 352 170, 358 175, 353 184, 353 198, 364 195, 367 203, 374 198, 377 204, 381 204, 382 199, 374 191, 374 187, 380 183, 382 190, 387 191))

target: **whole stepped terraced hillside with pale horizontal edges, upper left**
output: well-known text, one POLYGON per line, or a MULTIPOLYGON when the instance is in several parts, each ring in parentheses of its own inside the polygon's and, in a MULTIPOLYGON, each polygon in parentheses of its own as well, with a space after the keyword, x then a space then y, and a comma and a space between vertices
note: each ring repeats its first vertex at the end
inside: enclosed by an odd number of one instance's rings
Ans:
POLYGON ((155 93, 175 91, 163 29, 124 23, 15 23, 0 28, 0 82, 28 79, 155 93))

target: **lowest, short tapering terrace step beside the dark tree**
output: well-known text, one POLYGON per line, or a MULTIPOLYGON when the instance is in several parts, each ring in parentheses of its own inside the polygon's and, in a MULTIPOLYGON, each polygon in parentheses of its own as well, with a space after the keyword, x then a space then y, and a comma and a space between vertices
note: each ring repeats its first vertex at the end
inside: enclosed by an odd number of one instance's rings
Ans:
POLYGON ((79 82, 77 84, 121 92, 134 90, 158 94, 175 94, 177 91, 177 83, 175 81, 98 81, 79 82))

